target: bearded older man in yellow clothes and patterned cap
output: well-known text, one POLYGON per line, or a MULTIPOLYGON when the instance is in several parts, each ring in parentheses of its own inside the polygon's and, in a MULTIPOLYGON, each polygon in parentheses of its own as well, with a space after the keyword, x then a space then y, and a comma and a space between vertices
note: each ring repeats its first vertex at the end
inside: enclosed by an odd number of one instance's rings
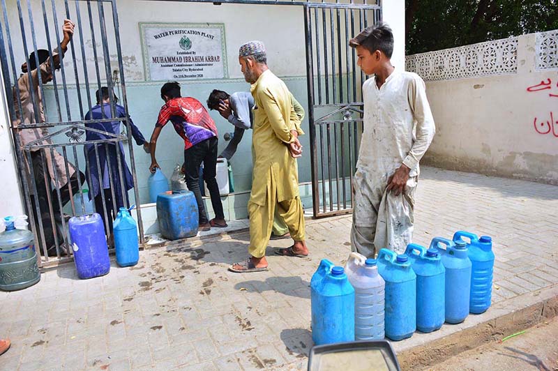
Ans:
POLYGON ((276 205, 294 241, 289 248, 276 249, 276 254, 306 257, 308 248, 304 241, 304 212, 296 165, 302 146, 296 130, 298 117, 292 107, 291 93, 285 83, 267 68, 266 51, 261 41, 242 45, 239 63, 246 82, 252 84, 250 91, 255 102, 252 128, 255 158, 248 201, 250 257, 229 267, 230 271, 244 273, 267 269, 265 253, 276 205))

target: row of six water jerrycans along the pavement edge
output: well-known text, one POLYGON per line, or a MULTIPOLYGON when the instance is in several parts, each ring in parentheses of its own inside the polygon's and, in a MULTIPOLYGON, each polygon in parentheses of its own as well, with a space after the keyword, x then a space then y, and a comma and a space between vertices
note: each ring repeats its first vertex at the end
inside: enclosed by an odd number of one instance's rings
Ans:
POLYGON ((493 267, 492 239, 462 231, 428 249, 411 243, 402 255, 352 252, 345 268, 323 259, 310 282, 312 339, 402 340, 458 324, 490 307, 493 267))

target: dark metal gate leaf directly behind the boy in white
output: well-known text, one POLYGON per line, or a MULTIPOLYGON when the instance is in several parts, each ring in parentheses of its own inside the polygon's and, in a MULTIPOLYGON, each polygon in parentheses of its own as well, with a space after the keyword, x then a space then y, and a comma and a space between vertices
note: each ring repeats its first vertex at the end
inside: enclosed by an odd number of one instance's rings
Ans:
POLYGON ((359 156, 367 76, 356 66, 349 39, 382 19, 371 4, 308 3, 304 7, 315 218, 352 211, 352 177, 359 156))

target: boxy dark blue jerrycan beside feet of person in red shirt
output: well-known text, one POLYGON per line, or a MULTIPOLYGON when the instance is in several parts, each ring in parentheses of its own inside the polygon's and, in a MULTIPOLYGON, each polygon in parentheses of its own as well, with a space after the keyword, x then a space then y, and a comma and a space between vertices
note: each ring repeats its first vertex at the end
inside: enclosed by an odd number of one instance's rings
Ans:
POLYGON ((189 190, 173 190, 157 196, 157 219, 165 239, 174 241, 195 236, 198 215, 196 198, 189 190))

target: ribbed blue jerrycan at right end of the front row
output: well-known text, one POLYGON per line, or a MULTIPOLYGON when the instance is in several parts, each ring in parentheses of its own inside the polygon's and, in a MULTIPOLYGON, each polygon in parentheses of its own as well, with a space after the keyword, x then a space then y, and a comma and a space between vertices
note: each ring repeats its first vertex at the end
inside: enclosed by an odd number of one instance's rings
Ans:
POLYGON ((471 297, 469 298, 469 312, 478 315, 490 308, 492 300, 492 273, 494 271, 494 252, 490 236, 458 231, 453 235, 453 242, 469 239, 467 255, 471 260, 471 297))

